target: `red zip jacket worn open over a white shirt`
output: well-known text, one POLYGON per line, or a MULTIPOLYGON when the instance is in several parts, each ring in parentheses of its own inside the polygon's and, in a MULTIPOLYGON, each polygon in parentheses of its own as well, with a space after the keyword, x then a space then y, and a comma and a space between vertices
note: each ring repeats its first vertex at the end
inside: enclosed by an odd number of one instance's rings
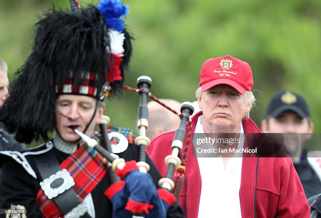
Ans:
MULTIPOLYGON (((192 133, 201 115, 202 111, 192 118, 192 133)), ((245 133, 261 133, 251 119, 242 124, 245 133)), ((164 158, 171 154, 174 135, 175 131, 163 133, 153 138, 146 149, 162 176, 167 170, 164 158)), ((198 161, 192 157, 192 148, 190 144, 186 158, 187 187, 183 186, 179 198, 187 218, 198 216, 202 186, 198 161)), ((258 218, 274 218, 276 214, 278 218, 310 217, 308 202, 291 158, 243 158, 239 195, 242 217, 245 218, 255 217, 255 210, 258 218)))

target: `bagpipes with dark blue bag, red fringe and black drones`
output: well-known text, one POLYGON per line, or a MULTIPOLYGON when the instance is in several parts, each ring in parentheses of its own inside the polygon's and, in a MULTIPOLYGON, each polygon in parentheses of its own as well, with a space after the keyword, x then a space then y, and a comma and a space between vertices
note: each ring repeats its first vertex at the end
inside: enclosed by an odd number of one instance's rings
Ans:
MULTIPOLYGON (((136 161, 126 162, 112 153, 107 132, 107 124, 109 123, 107 116, 104 116, 100 124, 104 147, 100 146, 96 140, 74 129, 75 133, 89 147, 94 148, 106 159, 104 163, 110 166, 108 174, 112 185, 106 190, 106 195, 113 204, 113 217, 166 217, 167 209, 176 201, 175 196, 171 193, 174 188, 171 178, 174 169, 181 164, 178 153, 183 146, 186 135, 186 123, 194 108, 190 102, 184 102, 181 106, 179 114, 181 123, 172 143, 172 154, 165 158, 168 170, 165 178, 159 180, 160 188, 157 190, 151 176, 147 173, 150 168, 145 162, 145 148, 150 144, 150 139, 145 136, 145 133, 148 128, 147 97, 152 96, 149 92, 151 82, 149 77, 141 76, 137 79, 138 90, 124 86, 126 90, 138 92, 140 95, 137 121, 139 136, 134 140, 134 143, 139 146, 139 161, 137 163, 136 161)), ((154 97, 154 99, 156 98, 154 97)))

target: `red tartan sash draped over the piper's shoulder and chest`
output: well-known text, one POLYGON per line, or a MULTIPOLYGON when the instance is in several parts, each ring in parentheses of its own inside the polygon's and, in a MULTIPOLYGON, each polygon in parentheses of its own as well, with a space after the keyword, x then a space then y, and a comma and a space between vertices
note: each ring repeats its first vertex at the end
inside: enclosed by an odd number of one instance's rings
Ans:
MULTIPOLYGON (((133 144, 137 136, 132 130, 117 126, 108 126, 108 132, 118 132, 125 135, 129 144, 133 144)), ((92 138, 100 144, 102 142, 100 136, 101 135, 93 135, 92 138)), ((60 164, 61 169, 66 169, 73 177, 75 182, 73 189, 80 202, 82 202, 85 196, 91 193, 105 176, 108 166, 103 164, 102 160, 103 157, 95 149, 84 144, 60 164)), ((53 199, 48 199, 41 188, 37 193, 36 201, 40 206, 43 217, 62 218, 64 216, 53 199)))

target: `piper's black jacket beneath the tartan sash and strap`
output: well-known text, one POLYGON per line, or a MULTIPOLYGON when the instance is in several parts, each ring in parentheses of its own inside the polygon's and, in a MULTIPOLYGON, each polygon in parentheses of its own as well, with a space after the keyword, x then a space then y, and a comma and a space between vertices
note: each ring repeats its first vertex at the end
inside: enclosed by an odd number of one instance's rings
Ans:
MULTIPOLYGON (((37 152, 45 148, 44 146, 38 147, 32 150, 24 150, 23 152, 37 152)), ((64 161, 69 154, 63 153, 57 150, 55 147, 52 148, 59 163, 64 161)), ((41 154, 39 154, 41 155, 41 154)), ((126 161, 136 160, 138 161, 139 147, 134 144, 129 144, 126 151, 117 154, 119 157, 124 158, 126 161)), ((30 166, 35 171, 37 178, 40 178, 39 171, 35 166, 33 160, 34 155, 26 155, 26 159, 30 163, 30 166)), ((157 186, 158 180, 161 178, 159 171, 156 169, 154 163, 151 161, 149 156, 146 156, 147 163, 151 169, 149 171, 152 179, 157 186)), ((27 210, 27 217, 29 218, 41 218, 39 211, 39 205, 36 202, 36 195, 40 189, 39 180, 34 179, 17 161, 13 158, 1 155, 0 162, 2 163, 3 173, 0 175, 0 208, 10 208, 10 205, 23 205, 27 210)), ((104 195, 104 191, 110 186, 108 173, 100 181, 100 183, 91 192, 96 218, 108 218, 111 217, 112 204, 104 195)), ((0 217, 5 217, 5 214, 1 214, 0 217)), ((167 212, 167 217, 170 218, 183 218, 183 210, 176 201, 167 212)))

